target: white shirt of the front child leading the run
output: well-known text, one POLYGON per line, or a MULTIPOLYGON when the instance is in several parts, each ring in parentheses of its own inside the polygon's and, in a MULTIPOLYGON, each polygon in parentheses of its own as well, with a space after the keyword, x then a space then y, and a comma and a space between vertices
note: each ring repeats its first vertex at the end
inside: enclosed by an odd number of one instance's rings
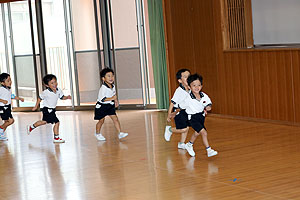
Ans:
MULTIPOLYGON (((198 100, 196 99, 195 95, 192 92, 190 92, 190 95, 185 99, 184 104, 182 104, 182 107, 186 109, 185 112, 188 115, 201 113, 204 111, 205 107, 212 104, 210 98, 204 92, 200 92, 200 97, 201 99, 198 100)), ((203 116, 205 116, 204 112, 203 116)))

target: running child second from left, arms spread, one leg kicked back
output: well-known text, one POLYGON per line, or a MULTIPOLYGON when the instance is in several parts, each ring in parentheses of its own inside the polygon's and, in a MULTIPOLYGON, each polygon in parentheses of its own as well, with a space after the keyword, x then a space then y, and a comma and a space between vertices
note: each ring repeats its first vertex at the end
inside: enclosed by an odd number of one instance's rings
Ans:
POLYGON ((27 126, 28 135, 35 128, 45 125, 47 123, 54 123, 53 132, 54 132, 54 143, 64 143, 65 140, 59 137, 59 120, 56 117, 56 104, 57 100, 66 100, 71 99, 71 96, 64 96, 61 89, 57 88, 57 78, 53 74, 47 74, 43 78, 43 83, 46 86, 46 89, 40 94, 39 98, 36 101, 36 104, 32 111, 38 109, 40 102, 43 100, 43 108, 41 109, 43 112, 43 118, 40 121, 35 122, 32 125, 27 126))

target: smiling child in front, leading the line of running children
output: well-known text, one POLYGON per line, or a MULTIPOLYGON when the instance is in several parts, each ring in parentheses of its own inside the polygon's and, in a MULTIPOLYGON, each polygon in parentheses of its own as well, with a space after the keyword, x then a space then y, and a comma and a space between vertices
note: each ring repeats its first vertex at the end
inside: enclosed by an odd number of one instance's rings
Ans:
POLYGON ((185 149, 191 156, 195 156, 193 144, 198 135, 201 134, 203 143, 206 147, 207 156, 215 156, 218 152, 209 146, 207 132, 204 126, 205 114, 207 114, 207 111, 211 110, 212 102, 204 92, 201 92, 203 78, 198 74, 193 74, 187 79, 187 82, 191 89, 191 93, 190 96, 185 99, 184 105, 182 104, 182 106, 186 108, 189 124, 195 130, 195 133, 192 135, 190 141, 186 143, 185 149))

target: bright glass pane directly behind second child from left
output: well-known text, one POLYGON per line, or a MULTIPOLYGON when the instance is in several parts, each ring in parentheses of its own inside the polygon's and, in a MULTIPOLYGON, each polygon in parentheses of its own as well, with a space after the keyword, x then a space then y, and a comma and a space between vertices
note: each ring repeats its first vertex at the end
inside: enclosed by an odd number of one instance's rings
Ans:
MULTIPOLYGON (((47 73, 57 77, 58 87, 63 90, 65 95, 72 95, 63 1, 43 1, 42 7, 47 73)), ((57 105, 71 106, 72 101, 58 101, 57 105)))

